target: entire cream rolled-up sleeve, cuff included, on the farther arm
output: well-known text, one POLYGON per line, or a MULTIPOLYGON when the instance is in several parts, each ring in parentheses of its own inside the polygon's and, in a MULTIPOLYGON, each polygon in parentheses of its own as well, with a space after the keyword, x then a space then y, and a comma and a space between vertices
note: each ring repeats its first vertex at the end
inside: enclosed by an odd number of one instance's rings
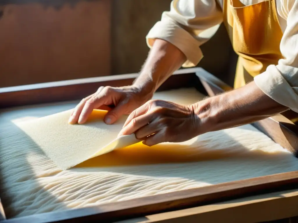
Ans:
POLYGON ((183 67, 193 67, 203 57, 200 46, 209 40, 222 22, 222 11, 216 0, 173 0, 170 11, 163 12, 146 36, 151 48, 155 39, 162 39, 179 48, 187 60, 183 67))

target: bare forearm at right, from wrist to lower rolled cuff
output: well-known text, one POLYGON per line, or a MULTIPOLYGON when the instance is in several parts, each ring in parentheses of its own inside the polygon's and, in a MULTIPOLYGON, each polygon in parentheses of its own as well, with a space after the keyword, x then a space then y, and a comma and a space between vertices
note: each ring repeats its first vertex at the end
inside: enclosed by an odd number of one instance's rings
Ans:
POLYGON ((208 131, 253 123, 288 110, 264 94, 254 82, 193 106, 199 119, 209 127, 208 131))

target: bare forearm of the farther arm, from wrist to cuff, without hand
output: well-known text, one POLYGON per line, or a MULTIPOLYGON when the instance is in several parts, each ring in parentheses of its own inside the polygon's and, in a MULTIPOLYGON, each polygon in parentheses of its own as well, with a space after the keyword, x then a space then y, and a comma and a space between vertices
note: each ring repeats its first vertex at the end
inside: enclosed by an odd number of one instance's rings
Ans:
POLYGON ((153 94, 185 60, 185 55, 176 46, 157 39, 133 85, 153 94))

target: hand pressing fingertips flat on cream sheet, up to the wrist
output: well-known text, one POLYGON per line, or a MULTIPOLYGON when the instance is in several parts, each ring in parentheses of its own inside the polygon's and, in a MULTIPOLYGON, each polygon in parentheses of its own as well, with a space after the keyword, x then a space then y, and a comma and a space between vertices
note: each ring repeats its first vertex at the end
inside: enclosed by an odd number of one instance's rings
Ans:
POLYGON ((133 86, 126 87, 100 87, 97 92, 80 101, 69 118, 70 124, 83 124, 93 109, 103 106, 115 106, 105 115, 106 124, 113 124, 123 115, 129 115, 138 107, 145 104, 153 96, 143 93, 141 89, 133 86))

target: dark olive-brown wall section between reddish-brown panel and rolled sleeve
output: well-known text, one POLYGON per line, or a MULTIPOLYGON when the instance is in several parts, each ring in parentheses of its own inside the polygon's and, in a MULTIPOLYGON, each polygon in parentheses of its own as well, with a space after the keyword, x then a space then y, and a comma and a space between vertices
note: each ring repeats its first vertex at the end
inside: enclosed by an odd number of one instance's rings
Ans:
POLYGON ((138 72, 149 48, 145 37, 170 9, 171 0, 114 0, 112 11, 112 74, 138 72))

